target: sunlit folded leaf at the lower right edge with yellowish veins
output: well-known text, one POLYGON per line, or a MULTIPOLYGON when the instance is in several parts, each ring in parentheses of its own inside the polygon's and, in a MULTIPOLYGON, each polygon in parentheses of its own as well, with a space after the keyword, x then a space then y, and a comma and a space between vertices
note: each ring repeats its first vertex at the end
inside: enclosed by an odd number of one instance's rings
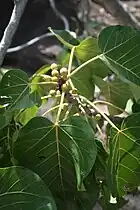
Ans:
POLYGON ((111 192, 122 196, 140 185, 140 113, 127 117, 120 132, 113 130, 108 159, 111 192))

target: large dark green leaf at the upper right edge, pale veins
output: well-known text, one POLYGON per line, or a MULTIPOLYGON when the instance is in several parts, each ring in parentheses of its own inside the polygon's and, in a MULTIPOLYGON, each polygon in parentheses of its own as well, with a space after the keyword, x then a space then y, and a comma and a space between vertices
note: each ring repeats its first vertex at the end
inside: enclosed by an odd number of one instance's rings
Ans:
POLYGON ((98 38, 101 60, 124 81, 140 85, 140 32, 127 26, 109 26, 98 38))

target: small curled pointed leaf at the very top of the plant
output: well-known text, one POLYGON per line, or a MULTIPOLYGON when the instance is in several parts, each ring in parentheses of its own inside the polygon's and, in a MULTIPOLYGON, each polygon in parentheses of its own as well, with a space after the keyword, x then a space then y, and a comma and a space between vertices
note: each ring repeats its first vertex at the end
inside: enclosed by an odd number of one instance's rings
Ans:
POLYGON ((79 41, 72 35, 70 31, 66 30, 52 30, 49 27, 49 30, 56 36, 56 38, 68 48, 72 48, 79 44, 79 41))

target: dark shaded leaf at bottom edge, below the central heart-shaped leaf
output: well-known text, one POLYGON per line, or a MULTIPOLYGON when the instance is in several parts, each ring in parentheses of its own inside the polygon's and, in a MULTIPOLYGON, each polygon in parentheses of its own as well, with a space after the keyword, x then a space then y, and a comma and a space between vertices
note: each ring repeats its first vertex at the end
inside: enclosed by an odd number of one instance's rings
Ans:
POLYGON ((99 185, 96 182, 94 171, 84 180, 85 191, 70 193, 66 192, 66 197, 63 199, 62 193, 56 196, 58 210, 92 210, 99 198, 99 185))

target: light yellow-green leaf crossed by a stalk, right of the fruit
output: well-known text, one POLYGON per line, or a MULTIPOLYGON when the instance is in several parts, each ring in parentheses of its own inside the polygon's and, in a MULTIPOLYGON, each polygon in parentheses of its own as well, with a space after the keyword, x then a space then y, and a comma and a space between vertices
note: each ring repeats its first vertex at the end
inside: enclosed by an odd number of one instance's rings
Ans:
MULTIPOLYGON (((97 45, 97 39, 92 37, 85 39, 75 48, 75 56, 79 61, 79 65, 100 53, 100 49, 97 45)), ((97 59, 72 75, 71 79, 75 87, 78 89, 79 94, 87 97, 88 99, 92 99, 95 88, 92 75, 98 75, 103 78, 107 76, 108 72, 108 68, 104 65, 104 63, 100 59, 97 59)))

